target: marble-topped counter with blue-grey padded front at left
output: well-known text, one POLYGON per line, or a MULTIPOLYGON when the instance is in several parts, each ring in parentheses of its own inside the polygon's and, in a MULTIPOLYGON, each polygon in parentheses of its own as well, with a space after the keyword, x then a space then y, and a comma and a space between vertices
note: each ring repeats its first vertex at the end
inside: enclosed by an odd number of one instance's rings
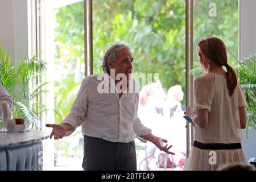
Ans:
POLYGON ((0 133, 0 170, 42 170, 45 131, 0 133))

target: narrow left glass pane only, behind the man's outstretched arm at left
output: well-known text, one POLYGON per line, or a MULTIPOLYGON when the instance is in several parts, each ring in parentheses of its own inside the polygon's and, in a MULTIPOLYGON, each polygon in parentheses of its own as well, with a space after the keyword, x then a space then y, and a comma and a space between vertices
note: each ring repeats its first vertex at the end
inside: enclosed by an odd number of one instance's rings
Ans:
MULTIPOLYGON (((54 1, 55 114, 59 124, 69 114, 84 78, 84 2, 54 1)), ((55 140, 55 169, 82 170, 81 127, 70 137, 55 140), (72 157, 72 158, 71 158, 72 157)))

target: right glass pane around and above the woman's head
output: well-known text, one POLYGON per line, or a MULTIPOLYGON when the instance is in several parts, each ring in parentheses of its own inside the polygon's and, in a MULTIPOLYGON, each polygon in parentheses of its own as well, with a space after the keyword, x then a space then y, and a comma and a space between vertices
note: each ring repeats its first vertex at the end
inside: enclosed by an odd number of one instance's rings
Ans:
POLYGON ((193 6, 194 64, 197 63, 196 45, 201 38, 220 38, 228 49, 228 62, 238 59, 238 0, 194 0, 193 6))

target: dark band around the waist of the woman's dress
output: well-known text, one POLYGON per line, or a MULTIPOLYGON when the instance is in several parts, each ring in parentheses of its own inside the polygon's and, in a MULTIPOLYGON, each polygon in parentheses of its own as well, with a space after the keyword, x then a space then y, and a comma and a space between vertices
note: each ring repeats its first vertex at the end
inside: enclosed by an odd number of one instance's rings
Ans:
POLYGON ((203 150, 235 150, 242 148, 241 143, 201 143, 196 140, 193 146, 203 150))

